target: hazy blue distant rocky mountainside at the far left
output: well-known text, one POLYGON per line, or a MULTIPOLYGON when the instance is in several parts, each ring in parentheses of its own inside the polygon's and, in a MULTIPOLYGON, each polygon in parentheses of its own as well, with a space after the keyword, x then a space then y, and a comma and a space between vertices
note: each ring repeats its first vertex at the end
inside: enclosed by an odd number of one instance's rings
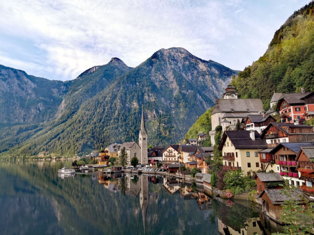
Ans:
POLYGON ((0 125, 51 120, 68 89, 68 83, 0 65, 0 125))

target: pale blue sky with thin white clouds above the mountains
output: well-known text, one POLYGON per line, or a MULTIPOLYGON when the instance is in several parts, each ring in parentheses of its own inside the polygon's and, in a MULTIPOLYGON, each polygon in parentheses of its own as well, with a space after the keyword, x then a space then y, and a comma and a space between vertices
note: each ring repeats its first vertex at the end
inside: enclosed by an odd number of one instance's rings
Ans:
POLYGON ((161 48, 243 70, 309 0, 0 1, 0 64, 54 80, 118 57, 135 67, 161 48))

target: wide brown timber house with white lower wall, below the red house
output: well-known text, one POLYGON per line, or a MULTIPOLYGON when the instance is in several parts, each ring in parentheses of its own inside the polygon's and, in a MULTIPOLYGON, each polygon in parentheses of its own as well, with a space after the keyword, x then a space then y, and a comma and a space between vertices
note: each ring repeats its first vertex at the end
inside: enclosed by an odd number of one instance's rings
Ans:
POLYGON ((274 148, 280 143, 308 142, 314 139, 312 126, 295 123, 271 122, 263 130, 261 138, 265 139, 269 148, 274 148))

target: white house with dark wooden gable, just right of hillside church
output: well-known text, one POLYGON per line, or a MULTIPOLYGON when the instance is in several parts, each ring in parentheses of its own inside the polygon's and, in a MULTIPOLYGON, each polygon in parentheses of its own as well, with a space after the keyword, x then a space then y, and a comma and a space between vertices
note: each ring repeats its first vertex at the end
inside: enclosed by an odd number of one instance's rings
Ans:
POLYGON ((244 121, 245 130, 246 131, 254 130, 257 131, 258 133, 262 133, 262 131, 271 122, 276 122, 276 120, 269 114, 247 115, 244 121))

